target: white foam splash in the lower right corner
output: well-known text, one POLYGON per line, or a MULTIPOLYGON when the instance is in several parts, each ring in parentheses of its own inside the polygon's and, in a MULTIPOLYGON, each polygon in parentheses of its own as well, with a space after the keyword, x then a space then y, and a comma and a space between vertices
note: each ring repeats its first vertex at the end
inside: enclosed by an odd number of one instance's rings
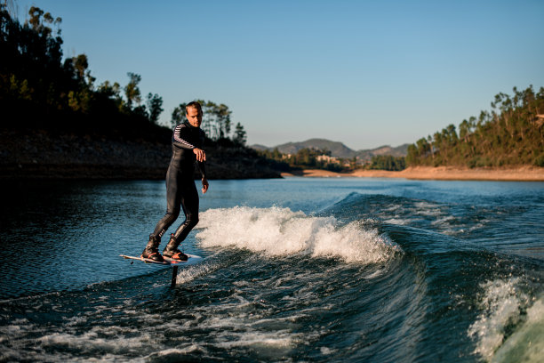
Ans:
POLYGON ((497 279, 482 285, 482 312, 469 327, 468 335, 476 339, 476 354, 491 361, 494 352, 504 341, 505 328, 520 321, 521 311, 529 298, 519 291, 519 278, 497 279))

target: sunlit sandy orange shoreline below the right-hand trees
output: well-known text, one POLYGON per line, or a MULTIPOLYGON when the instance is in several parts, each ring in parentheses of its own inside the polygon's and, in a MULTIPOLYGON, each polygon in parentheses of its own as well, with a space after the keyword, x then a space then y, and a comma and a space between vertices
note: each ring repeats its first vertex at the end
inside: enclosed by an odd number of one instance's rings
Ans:
POLYGON ((327 170, 305 169, 302 173, 282 173, 282 176, 309 178, 404 178, 436 181, 544 181, 544 168, 519 166, 504 168, 463 168, 456 166, 416 166, 401 172, 359 169, 351 173, 335 173, 327 170))

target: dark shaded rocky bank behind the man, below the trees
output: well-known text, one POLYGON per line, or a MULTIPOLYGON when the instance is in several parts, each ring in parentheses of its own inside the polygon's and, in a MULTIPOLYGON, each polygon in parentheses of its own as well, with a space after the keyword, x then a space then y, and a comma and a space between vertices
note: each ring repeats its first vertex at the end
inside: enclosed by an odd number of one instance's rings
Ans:
MULTIPOLYGON (((252 149, 206 148, 210 179, 280 178, 252 149)), ((0 132, 0 179, 164 179, 170 141, 52 133, 0 132)), ((195 174, 199 177, 198 172, 195 174)))

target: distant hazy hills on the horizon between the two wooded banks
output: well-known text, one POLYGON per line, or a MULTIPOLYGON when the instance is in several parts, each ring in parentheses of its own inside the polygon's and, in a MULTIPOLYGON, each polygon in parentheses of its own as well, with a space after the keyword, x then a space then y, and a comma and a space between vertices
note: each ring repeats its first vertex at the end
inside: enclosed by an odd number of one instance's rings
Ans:
POLYGON ((332 157, 352 158, 357 157, 360 162, 370 161, 376 155, 392 155, 394 157, 405 157, 409 144, 403 144, 396 148, 388 145, 380 146, 376 149, 353 150, 339 141, 330 141, 325 139, 309 139, 307 141, 287 142, 282 145, 268 148, 264 145, 252 145, 252 149, 270 150, 278 149, 283 154, 296 154, 300 149, 328 149, 332 157))

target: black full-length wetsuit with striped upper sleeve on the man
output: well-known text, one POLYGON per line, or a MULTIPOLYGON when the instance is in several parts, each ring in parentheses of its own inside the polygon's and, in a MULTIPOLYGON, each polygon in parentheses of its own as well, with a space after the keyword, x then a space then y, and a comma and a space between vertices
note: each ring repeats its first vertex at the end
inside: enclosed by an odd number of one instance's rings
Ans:
MULTIPOLYGON (((182 241, 198 223, 198 193, 194 173, 196 155, 193 149, 204 146, 204 131, 188 122, 177 125, 172 135, 172 158, 166 173, 166 214, 156 223, 151 237, 161 238, 164 231, 180 215, 180 207, 185 214, 185 222, 175 231, 173 237, 182 241)), ((206 177, 204 162, 198 161, 202 177, 206 177)))

